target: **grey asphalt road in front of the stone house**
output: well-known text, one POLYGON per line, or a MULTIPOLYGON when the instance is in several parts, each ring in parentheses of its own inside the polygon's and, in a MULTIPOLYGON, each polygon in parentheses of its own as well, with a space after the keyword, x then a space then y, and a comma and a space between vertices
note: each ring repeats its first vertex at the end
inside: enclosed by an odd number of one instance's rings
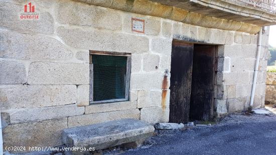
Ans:
POLYGON ((211 127, 161 130, 123 154, 276 154, 276 115, 231 115, 211 127))

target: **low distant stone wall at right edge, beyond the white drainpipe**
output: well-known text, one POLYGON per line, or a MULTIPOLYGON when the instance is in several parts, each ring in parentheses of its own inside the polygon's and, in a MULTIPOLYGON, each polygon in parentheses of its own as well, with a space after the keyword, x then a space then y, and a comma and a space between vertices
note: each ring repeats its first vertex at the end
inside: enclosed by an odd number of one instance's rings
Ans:
POLYGON ((265 101, 276 104, 276 73, 266 73, 265 101))

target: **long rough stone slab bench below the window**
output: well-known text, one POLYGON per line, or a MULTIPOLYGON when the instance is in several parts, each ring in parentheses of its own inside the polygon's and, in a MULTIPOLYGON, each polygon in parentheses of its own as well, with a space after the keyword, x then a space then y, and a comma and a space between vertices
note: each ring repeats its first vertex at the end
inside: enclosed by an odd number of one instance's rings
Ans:
POLYGON ((66 128, 62 140, 69 147, 95 147, 98 150, 146 139, 154 130, 154 126, 141 120, 121 119, 66 128))

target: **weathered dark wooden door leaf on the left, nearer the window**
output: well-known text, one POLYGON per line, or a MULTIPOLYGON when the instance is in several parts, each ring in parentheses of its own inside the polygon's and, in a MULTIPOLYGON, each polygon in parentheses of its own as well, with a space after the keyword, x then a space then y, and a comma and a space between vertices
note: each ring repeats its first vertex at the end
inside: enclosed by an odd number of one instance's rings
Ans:
POLYGON ((193 44, 173 41, 171 63, 170 122, 189 121, 193 44))

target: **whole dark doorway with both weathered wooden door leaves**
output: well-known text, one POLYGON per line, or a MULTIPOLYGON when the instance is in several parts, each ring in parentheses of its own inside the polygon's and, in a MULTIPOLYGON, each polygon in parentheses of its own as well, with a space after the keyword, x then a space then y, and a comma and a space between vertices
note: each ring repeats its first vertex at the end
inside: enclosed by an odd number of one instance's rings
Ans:
POLYGON ((212 120, 217 46, 173 41, 170 122, 212 120))

